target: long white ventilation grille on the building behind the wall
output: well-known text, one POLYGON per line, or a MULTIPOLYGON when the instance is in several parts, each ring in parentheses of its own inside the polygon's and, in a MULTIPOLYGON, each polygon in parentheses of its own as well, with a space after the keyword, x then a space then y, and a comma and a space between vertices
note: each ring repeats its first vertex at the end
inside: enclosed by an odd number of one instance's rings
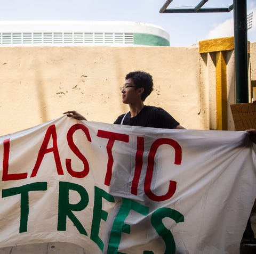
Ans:
POLYGON ((133 44, 133 34, 122 32, 0 32, 0 46, 27 46, 28 44, 133 44))

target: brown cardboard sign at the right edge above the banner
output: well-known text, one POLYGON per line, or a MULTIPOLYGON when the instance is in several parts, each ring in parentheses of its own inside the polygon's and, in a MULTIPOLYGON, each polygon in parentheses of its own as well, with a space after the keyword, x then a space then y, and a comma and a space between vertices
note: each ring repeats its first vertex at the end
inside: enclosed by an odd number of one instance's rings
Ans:
POLYGON ((256 129, 256 103, 231 104, 236 130, 256 129))

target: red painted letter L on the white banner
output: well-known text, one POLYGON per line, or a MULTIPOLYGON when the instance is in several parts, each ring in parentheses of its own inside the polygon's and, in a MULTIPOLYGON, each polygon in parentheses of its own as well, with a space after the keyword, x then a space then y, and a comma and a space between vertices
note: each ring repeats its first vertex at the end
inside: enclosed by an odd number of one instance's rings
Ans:
POLYGON ((8 174, 10 154, 10 138, 4 140, 3 176, 2 181, 19 180, 27 178, 28 173, 8 174))

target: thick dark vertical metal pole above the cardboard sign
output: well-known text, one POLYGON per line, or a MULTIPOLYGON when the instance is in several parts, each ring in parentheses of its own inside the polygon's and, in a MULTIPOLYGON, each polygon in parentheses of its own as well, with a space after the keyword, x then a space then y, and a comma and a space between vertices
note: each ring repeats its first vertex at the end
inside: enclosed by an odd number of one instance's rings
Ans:
POLYGON ((246 9, 246 0, 234 0, 236 103, 249 100, 246 9))

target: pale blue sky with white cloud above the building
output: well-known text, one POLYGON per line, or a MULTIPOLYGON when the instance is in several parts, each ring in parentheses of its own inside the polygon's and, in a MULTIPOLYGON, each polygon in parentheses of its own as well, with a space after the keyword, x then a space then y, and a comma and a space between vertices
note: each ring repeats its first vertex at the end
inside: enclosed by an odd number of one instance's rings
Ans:
MULTIPOLYGON (((233 14, 159 13, 166 0, 12 0, 1 4, 0 21, 9 20, 99 20, 135 21, 161 26, 170 35, 171 46, 191 46, 199 40, 234 35, 233 14)), ((173 0, 167 7, 194 7, 201 0, 173 0)), ((233 0, 209 0, 203 7, 228 7, 233 0)), ((256 0, 247 0, 253 12, 248 40, 256 42, 256 0)))

